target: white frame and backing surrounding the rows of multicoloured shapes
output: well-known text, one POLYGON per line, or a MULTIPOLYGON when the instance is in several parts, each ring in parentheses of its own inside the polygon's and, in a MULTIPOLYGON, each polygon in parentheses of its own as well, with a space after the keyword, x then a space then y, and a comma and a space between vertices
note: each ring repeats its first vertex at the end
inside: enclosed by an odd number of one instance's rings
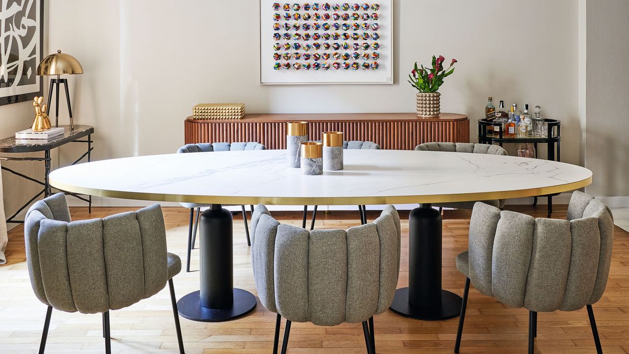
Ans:
MULTIPOLYGON (((346 0, 347 1, 347 0, 346 0)), ((367 4, 369 4, 369 6, 372 6, 372 4, 377 4, 379 5, 379 8, 377 9, 377 11, 372 10, 371 8, 369 8, 368 11, 365 11, 363 8, 360 8, 358 11, 355 11, 351 8, 351 6, 353 4, 359 4, 360 6, 362 6, 362 4, 364 3, 347 3, 346 1, 342 1, 340 3, 337 3, 336 1, 333 2, 329 2, 329 1, 310 1, 310 0, 292 0, 290 3, 288 3, 286 0, 284 1, 277 1, 277 0, 260 0, 260 84, 263 85, 278 85, 278 84, 392 84, 393 83, 393 18, 392 18, 392 14, 393 14, 393 2, 392 0, 370 0, 367 4), (279 10, 274 9, 274 4, 277 3, 280 5, 279 10), (319 10, 314 10, 313 4, 318 3, 320 5, 320 9, 319 10), (289 11, 284 11, 284 4, 289 4, 290 5, 290 9, 289 11), (299 4, 300 9, 298 11, 294 10, 294 4, 299 4), (304 4, 309 4, 311 6, 311 9, 309 10, 304 10, 303 9, 303 5, 304 4), (323 6, 324 4, 330 4, 330 9, 329 10, 324 10, 323 6), (347 10, 343 10, 343 4, 348 4, 350 6, 349 9, 347 10), (334 6, 338 6, 338 10, 334 9, 334 6), (291 19, 290 20, 286 20, 286 18, 284 17, 285 14, 291 14, 291 19), (304 14, 304 13, 309 13, 311 15, 311 18, 309 20, 303 20, 303 18, 300 18, 299 20, 295 20, 292 16, 294 16, 295 13, 299 13, 304 14), (330 15, 330 19, 326 20, 325 18, 321 18, 320 20, 315 20, 314 18, 314 13, 318 13, 320 14, 320 16, 324 16, 324 13, 327 13, 330 15), (337 13, 340 16, 342 16, 343 14, 347 13, 348 15, 352 16, 352 14, 357 13, 360 14, 360 18, 359 20, 354 20, 353 17, 348 18, 348 20, 343 20, 342 18, 339 18, 338 20, 334 20, 333 15, 337 13), (362 16, 364 16, 363 14, 367 13, 370 15, 369 20, 364 20, 364 18, 362 18, 362 16), (377 20, 374 20, 373 17, 371 16, 373 13, 377 13, 377 20), (277 20, 275 18, 276 14, 280 15, 280 19, 277 20), (301 27, 299 30, 294 30, 294 28, 292 28, 292 25, 298 24, 300 26, 303 26, 304 23, 308 23, 309 25, 313 25, 313 23, 318 22, 320 25, 323 25, 324 23, 328 23, 328 25, 330 25, 330 29, 329 30, 324 30, 323 26, 321 26, 320 30, 315 30, 314 26, 312 28, 310 28, 309 30, 304 31, 303 27, 301 27), (291 26, 291 28, 289 30, 286 30, 284 28, 284 23, 287 23, 291 26), (333 28, 334 24, 338 24, 339 26, 342 25, 353 25, 354 23, 358 23, 359 25, 362 25, 364 23, 367 23, 370 25, 369 30, 363 30, 362 28, 360 28, 359 30, 354 30, 354 28, 346 28, 343 29, 342 27, 335 29, 333 28), (377 25, 379 25, 379 28, 377 28, 377 30, 374 30, 374 28, 372 27, 373 23, 377 23, 377 25), (274 24, 279 24, 280 29, 276 30, 276 28, 274 27, 274 24), (378 37, 374 40, 374 38, 372 38, 372 33, 376 32, 378 37), (274 33, 280 33, 280 35, 284 35, 284 33, 289 33, 289 35, 291 35, 290 39, 286 39, 284 37, 282 37, 280 40, 276 40, 274 38, 274 33), (321 36, 323 36, 323 33, 328 33, 330 36, 332 36, 334 33, 339 33, 340 35, 345 35, 345 33, 347 33, 350 36, 353 36, 354 33, 358 33, 360 35, 360 38, 358 40, 355 40, 355 37, 350 37, 347 39, 343 39, 338 38, 338 39, 333 39, 333 37, 330 37, 330 39, 325 40, 325 37, 320 38, 319 40, 314 40, 314 39, 309 39, 309 40, 303 40, 303 39, 295 39, 294 37, 292 37, 294 35, 294 33, 309 33, 309 35, 313 35, 313 33, 319 33, 321 36), (364 37, 362 37, 364 34, 363 33, 369 33, 369 39, 365 40, 364 37), (319 43, 321 45, 320 49, 316 50, 315 47, 312 47, 309 50, 304 50, 304 47, 301 47, 301 49, 294 49, 294 47, 292 47, 292 45, 294 45, 294 43, 299 43, 300 45, 305 46, 306 44, 309 45, 313 45, 315 42, 319 43), (379 48, 374 49, 372 47, 372 43, 377 42, 379 43, 379 48), (275 44, 279 44, 281 46, 281 49, 276 50, 274 49, 274 45, 275 44), (291 45, 291 48, 286 50, 284 49, 283 45, 285 43, 289 43, 291 45), (323 43, 328 43, 330 46, 334 45, 335 43, 339 44, 339 45, 343 45, 345 43, 347 43, 348 45, 350 45, 350 47, 348 49, 343 49, 343 47, 340 47, 340 49, 335 50, 333 47, 330 47, 329 49, 325 49, 323 47, 323 43), (361 47, 359 48, 359 50, 355 50, 353 46, 354 43, 359 43, 359 45, 361 45, 361 47), (370 47, 368 50, 364 50, 362 48, 362 44, 363 43, 369 43, 370 47), (299 53, 300 55, 303 54, 309 54, 311 55, 311 58, 308 60, 303 60, 303 58, 300 57, 300 59, 294 59, 293 54, 294 53, 299 53), (354 59, 353 57, 350 57, 349 60, 343 60, 342 57, 338 58, 338 59, 334 59, 334 57, 332 56, 334 53, 338 53, 340 55, 343 54, 354 54, 359 53, 360 57, 358 59, 354 59), (379 54, 379 56, 377 57, 377 59, 373 59, 371 57, 371 55, 377 52, 377 54, 379 54), (281 55, 281 58, 279 60, 276 60, 274 58, 274 54, 279 54, 281 55), (330 55, 330 58, 328 60, 324 60, 323 57, 321 57, 320 60, 314 60, 313 55, 314 54, 319 54, 321 56, 323 56, 324 53, 327 53, 328 55, 330 55), (364 60, 362 58, 363 54, 369 54, 370 58, 369 60, 364 60), (286 60, 284 58, 284 54, 291 54, 291 58, 289 60, 286 60), (289 69, 284 69, 283 67, 279 67, 279 69, 275 69, 274 66, 276 66, 276 63, 280 63, 281 65, 283 65, 284 63, 289 63, 291 65, 291 67, 289 69), (315 62, 319 62, 320 64, 320 69, 315 70, 313 65, 315 64, 315 62), (338 62, 341 67, 339 67, 339 69, 335 69, 333 67, 333 63, 334 62, 338 62), (350 64, 353 63, 358 63, 359 64, 359 68, 358 69, 353 69, 352 66, 350 66, 348 69, 343 69, 342 65, 348 62, 350 64), (377 62, 378 66, 377 69, 372 69, 371 67, 369 69, 363 69, 362 65, 367 62, 368 64, 372 64, 373 62, 377 62), (308 63, 311 64, 311 67, 309 69, 299 69, 299 70, 295 70, 294 69, 294 64, 296 63, 300 63, 301 67, 304 68, 303 64, 304 63, 308 63), (325 70, 323 69, 323 64, 328 64, 330 65, 330 69, 325 70)))

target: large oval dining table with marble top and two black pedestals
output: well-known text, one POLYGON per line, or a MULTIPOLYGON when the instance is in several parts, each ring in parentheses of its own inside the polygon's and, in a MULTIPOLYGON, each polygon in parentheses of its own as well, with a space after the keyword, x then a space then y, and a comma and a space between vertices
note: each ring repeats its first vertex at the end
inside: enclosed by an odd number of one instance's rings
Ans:
POLYGON ((513 156, 458 152, 345 150, 345 168, 305 176, 286 151, 225 151, 126 157, 60 168, 60 190, 102 197, 209 203, 201 214, 200 290, 177 303, 183 317, 227 321, 256 305, 233 287, 231 212, 222 205, 420 204, 409 214, 408 287, 392 311, 423 320, 460 314, 442 289, 442 217, 431 203, 533 197, 589 185, 589 169, 513 156))

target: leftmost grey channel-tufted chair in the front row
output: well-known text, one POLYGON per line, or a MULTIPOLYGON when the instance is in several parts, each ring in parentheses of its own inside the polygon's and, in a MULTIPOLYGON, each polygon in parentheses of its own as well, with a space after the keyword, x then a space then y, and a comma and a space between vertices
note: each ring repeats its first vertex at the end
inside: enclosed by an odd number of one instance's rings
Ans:
POLYGON ((128 307, 170 287, 179 353, 184 353, 172 277, 179 257, 166 251, 159 204, 104 219, 70 220, 65 195, 33 204, 24 226, 26 263, 37 299, 48 306, 40 351, 46 346, 53 307, 103 314, 106 353, 111 353, 109 311, 128 307))

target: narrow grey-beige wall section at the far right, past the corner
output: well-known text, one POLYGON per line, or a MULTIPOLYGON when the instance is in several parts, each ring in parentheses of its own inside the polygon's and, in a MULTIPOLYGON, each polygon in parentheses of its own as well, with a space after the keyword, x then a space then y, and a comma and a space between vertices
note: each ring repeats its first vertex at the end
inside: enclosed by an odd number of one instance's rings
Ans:
MULTIPOLYGON (((594 195, 629 196, 629 1, 587 0, 585 166, 594 195)), ((629 205, 625 205, 629 207, 629 205)))

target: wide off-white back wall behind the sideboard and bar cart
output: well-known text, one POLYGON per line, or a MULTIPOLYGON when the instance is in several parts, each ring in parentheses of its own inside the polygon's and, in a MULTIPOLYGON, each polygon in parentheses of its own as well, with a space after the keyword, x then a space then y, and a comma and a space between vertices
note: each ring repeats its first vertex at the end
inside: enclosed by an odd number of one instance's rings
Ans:
MULTIPOLYGON (((442 54, 459 60, 441 89, 443 111, 475 121, 487 96, 541 105, 563 122, 562 160, 579 162, 573 0, 394 1, 388 86, 260 86, 255 0, 48 6, 50 50, 74 55, 86 72, 70 77, 70 91, 75 122, 96 127, 97 159, 174 152, 201 102, 243 101, 256 113, 413 111, 413 62, 442 54)), ((470 135, 476 140, 474 123, 470 135)))

